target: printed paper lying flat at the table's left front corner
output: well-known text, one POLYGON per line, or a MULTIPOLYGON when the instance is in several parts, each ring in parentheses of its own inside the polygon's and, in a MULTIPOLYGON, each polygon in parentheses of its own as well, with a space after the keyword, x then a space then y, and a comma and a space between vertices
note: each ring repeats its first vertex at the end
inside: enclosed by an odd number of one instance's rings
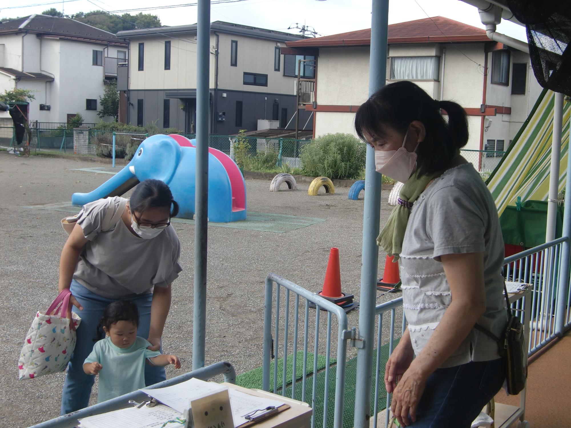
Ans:
POLYGON ((160 428, 167 421, 182 418, 182 414, 167 406, 128 407, 79 419, 82 428, 160 428))

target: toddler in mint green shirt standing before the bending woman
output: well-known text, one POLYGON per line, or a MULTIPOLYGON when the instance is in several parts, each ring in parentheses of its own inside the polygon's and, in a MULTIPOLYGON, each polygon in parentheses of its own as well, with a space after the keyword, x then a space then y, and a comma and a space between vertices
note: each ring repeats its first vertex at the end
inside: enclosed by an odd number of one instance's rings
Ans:
POLYGON ((85 373, 99 374, 98 403, 144 388, 145 362, 155 366, 174 364, 180 369, 178 357, 147 349, 151 344, 137 336, 138 325, 139 311, 134 303, 116 301, 105 308, 97 339, 102 336, 101 327, 106 337, 96 342, 83 364, 85 373))

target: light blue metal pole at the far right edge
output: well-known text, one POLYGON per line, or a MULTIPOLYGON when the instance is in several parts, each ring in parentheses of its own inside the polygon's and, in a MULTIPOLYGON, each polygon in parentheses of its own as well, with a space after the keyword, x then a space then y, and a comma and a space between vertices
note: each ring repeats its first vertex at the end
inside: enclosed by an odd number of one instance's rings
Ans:
MULTIPOLYGON (((562 94, 556 94, 562 95, 562 94)), ((556 98, 556 104, 558 99, 556 98)), ((562 102, 562 96, 561 96, 562 102)), ((560 104, 561 106, 561 104, 560 104)), ((562 106, 561 106, 562 107, 562 106)), ((560 109, 557 109, 560 110, 560 109)), ((563 109, 560 110, 561 116, 559 116, 558 121, 562 123, 563 109)), ((561 132, 561 127, 559 128, 561 132)), ((555 120, 553 120, 553 131, 555 131, 555 120)), ((555 134, 555 132, 553 132, 555 134)), ((569 143, 569 142, 568 142, 569 143)), ((571 235, 571 194, 568 196, 567 193, 571 191, 571 153, 569 152, 569 147, 567 148, 567 176, 565 181, 565 208, 563 212, 563 237, 569 238, 571 235)), ((555 309, 555 334, 556 336, 562 336, 563 327, 565 325, 565 305, 568 304, 568 287, 569 287, 569 255, 571 249, 571 242, 565 241, 561 249, 561 270, 559 271, 559 288, 557 290, 557 308, 555 309)), ((526 297, 527 298, 527 297, 526 297)))

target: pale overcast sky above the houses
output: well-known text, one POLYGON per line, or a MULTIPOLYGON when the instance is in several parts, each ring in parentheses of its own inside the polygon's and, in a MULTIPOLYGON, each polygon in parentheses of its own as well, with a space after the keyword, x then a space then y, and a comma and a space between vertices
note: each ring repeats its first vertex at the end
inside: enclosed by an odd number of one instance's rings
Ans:
MULTIPOLYGON (((156 7, 157 5, 178 5, 195 0, 70 0, 54 4, 50 0, 20 0, 8 2, 3 0, 5 8, 0 8, 0 17, 14 18, 18 16, 42 13, 43 10, 55 7, 65 14, 79 11, 87 12, 95 9, 117 10, 135 9, 138 7, 156 7), (38 5, 19 7, 23 5, 38 5), (10 6, 7 6, 10 5, 10 6), (120 5, 120 6, 119 6, 120 5), (18 9, 8 7, 18 6, 18 9)), ((185 25, 196 22, 196 6, 176 7, 175 9, 159 9, 143 11, 159 16, 163 25, 185 25)), ((130 12, 131 14, 137 11, 130 12)), ((389 2, 389 23, 412 21, 441 15, 446 18, 484 28, 480 22, 476 7, 460 0, 392 0, 389 2), (423 10, 424 9, 424 10, 423 10)), ((243 25, 262 27, 271 30, 288 31, 287 27, 295 23, 315 28, 321 35, 345 33, 346 31, 371 28, 371 0, 245 0, 234 4, 212 5, 211 21, 227 21, 243 25)), ((517 24, 502 21, 498 32, 526 40, 525 29, 517 24)))

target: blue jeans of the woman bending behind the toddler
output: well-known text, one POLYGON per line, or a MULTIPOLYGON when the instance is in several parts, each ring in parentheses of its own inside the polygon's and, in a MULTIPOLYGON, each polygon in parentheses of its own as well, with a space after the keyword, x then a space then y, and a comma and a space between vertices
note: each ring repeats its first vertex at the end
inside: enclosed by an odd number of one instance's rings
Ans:
MULTIPOLYGON (((83 407, 89 405, 89 396, 95 382, 95 376, 83 372, 83 362, 85 362, 85 359, 93 350, 93 345, 95 344, 93 338, 96 335, 99 320, 103 316, 103 310, 112 302, 122 300, 101 297, 75 280, 71 281, 70 290, 71 294, 77 298, 79 304, 83 306, 83 310, 73 307, 73 312, 81 317, 81 323, 77 328, 77 343, 67 366, 66 381, 63 383, 62 415, 83 409, 83 407)), ((137 336, 147 338, 151 322, 152 294, 140 294, 129 300, 137 305, 139 309, 137 336)), ((149 386, 164 381, 167 377, 164 367, 147 364, 145 366, 144 378, 145 384, 149 386)))

